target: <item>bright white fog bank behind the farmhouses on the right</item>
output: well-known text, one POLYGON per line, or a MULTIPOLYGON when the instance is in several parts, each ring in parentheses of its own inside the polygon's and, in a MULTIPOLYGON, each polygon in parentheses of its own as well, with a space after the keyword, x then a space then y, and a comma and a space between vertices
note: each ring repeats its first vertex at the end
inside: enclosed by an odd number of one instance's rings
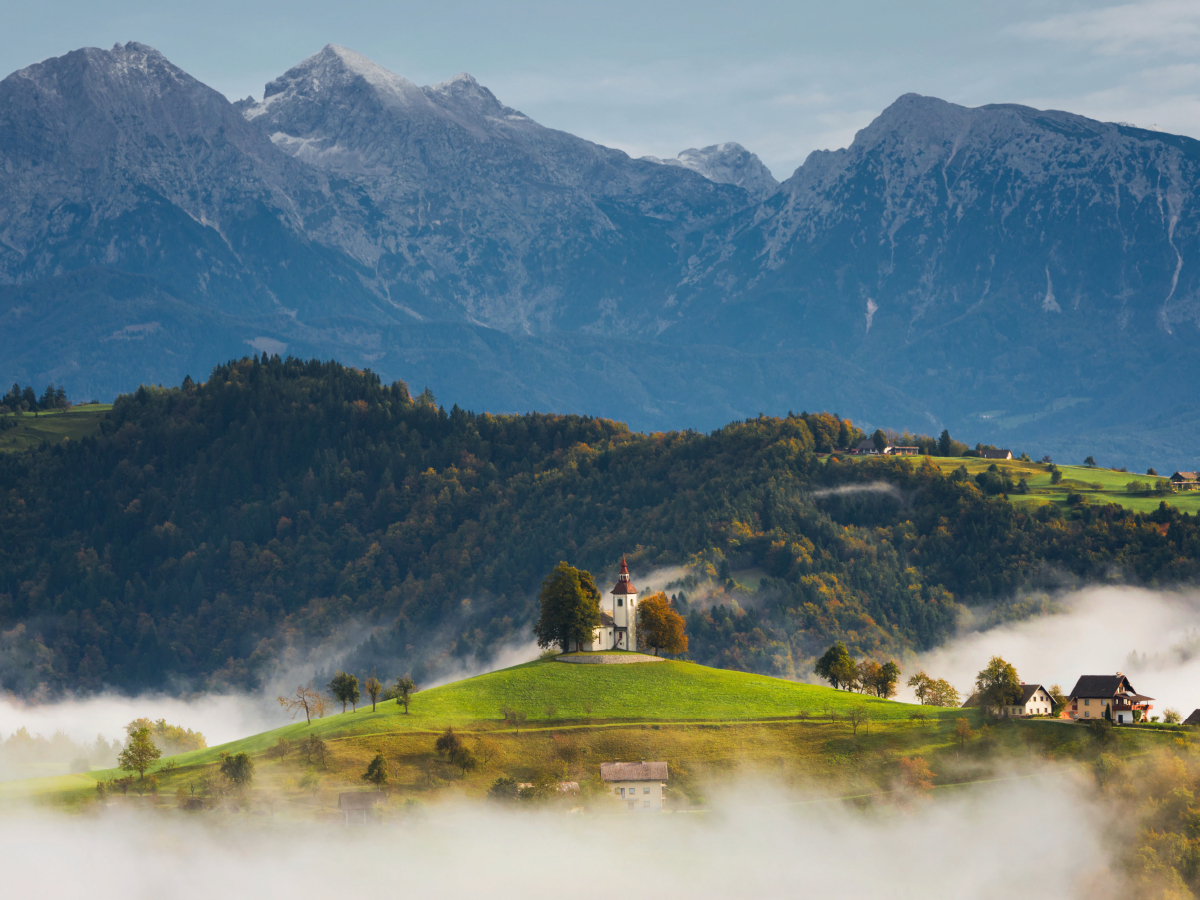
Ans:
MULTIPOLYGON (((1061 612, 971 631, 906 666, 946 678, 964 698, 989 658, 1003 656, 1021 680, 1070 691, 1081 674, 1129 676, 1138 691, 1184 715, 1200 707, 1200 594, 1088 588, 1060 599, 1061 612)), ((911 695, 905 691, 902 698, 911 695)))

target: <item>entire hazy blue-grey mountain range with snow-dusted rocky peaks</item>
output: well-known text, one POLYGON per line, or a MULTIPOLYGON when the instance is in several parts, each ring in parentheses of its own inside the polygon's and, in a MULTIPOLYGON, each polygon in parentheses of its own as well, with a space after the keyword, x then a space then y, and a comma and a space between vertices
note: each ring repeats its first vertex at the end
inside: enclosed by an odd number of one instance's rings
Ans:
POLYGON ((1182 466, 1198 160, 905 95, 776 185, 737 144, 632 160, 334 46, 238 103, 76 50, 0 82, 0 379, 108 397, 253 348, 478 409, 829 408, 1182 466))

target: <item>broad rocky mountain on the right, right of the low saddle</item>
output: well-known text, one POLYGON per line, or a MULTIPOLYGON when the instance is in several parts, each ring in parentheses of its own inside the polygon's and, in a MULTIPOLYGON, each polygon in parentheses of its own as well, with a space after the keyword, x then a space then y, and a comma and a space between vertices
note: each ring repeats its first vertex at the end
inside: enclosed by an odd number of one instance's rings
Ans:
POLYGON ((679 340, 820 346, 976 434, 1178 460, 1198 162, 1190 138, 906 95, 709 244, 679 340))

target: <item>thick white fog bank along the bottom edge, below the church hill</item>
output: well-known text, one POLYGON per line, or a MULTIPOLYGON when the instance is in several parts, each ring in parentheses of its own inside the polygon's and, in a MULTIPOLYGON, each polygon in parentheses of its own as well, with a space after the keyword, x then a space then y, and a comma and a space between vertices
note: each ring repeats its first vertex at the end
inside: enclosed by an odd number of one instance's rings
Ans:
MULTIPOLYGON (((943 792, 948 793, 948 792, 943 792)), ((1068 775, 862 812, 731 788, 709 814, 432 808, 395 824, 186 814, 0 820, 8 896, 1108 900, 1109 814, 1068 775)))

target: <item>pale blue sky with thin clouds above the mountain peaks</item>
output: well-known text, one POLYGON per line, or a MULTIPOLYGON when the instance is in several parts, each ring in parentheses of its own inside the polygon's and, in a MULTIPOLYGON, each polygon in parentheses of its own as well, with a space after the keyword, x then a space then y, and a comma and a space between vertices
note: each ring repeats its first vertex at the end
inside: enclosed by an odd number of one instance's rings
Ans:
POLYGON ((142 41, 230 100, 341 43, 637 156, 737 140, 786 178, 907 91, 1200 137, 1200 0, 6 0, 0 72, 142 41))

